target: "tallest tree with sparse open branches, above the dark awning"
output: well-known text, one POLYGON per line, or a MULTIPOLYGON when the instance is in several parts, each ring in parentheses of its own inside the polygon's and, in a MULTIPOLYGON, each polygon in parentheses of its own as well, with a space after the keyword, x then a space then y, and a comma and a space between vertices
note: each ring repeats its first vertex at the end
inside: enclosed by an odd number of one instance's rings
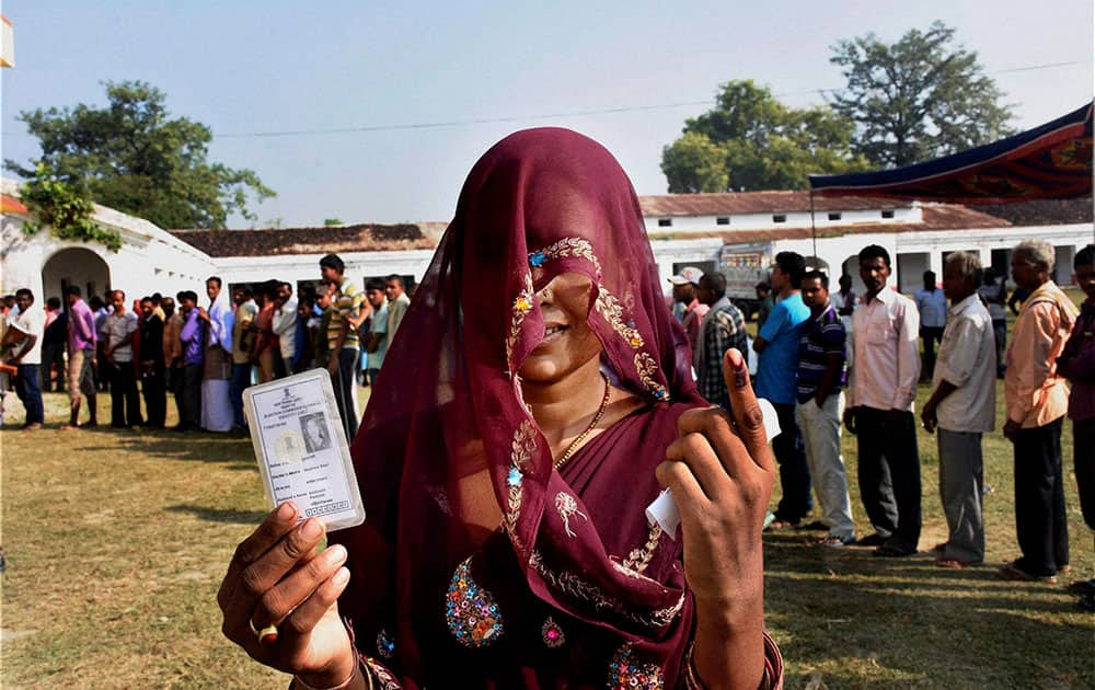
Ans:
POLYGON ((875 165, 907 165, 1012 134, 1003 93, 977 53, 954 45, 955 30, 934 22, 887 45, 874 34, 833 46, 848 88, 833 110, 856 124, 854 149, 875 165))

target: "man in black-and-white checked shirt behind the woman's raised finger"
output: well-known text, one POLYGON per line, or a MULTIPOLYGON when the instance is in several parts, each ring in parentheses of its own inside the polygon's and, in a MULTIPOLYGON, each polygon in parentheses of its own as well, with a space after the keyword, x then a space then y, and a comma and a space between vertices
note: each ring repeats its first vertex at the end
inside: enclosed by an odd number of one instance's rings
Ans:
POLYGON ((723 376, 723 356, 731 347, 746 352, 746 320, 726 297, 723 274, 703 274, 696 295, 708 309, 700 322, 699 346, 692 352, 695 386, 704 400, 729 410, 730 392, 723 376))

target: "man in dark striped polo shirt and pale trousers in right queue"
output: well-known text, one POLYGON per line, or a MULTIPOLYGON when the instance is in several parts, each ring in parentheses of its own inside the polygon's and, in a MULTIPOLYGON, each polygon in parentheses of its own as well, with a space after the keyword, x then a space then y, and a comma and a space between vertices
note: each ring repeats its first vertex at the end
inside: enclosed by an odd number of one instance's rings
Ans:
POLYGON ((808 272, 803 276, 802 294, 811 318, 798 344, 795 421, 803 433, 821 520, 829 528, 820 543, 840 548, 855 543, 848 474, 840 455, 848 338, 829 302, 829 276, 820 271, 808 272))

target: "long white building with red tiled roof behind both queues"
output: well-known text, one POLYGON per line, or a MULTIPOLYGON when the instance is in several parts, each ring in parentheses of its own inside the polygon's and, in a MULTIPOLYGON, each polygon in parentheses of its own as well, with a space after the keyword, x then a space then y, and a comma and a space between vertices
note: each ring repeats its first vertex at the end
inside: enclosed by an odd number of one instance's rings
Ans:
MULTIPOLYGON (((0 292, 30 287, 39 297, 59 297, 66 285, 79 285, 85 295, 107 287, 131 298, 182 289, 201 295, 211 275, 228 286, 277 278, 300 290, 319 279, 320 257, 330 252, 346 262, 346 274, 355 279, 399 274, 413 284, 425 274, 446 226, 169 232, 96 206, 94 220, 122 235, 123 246, 113 253, 95 243, 58 240, 48 230, 24 234, 27 211, 18 199, 19 184, 4 180, 2 193, 0 292)), ((639 202, 666 280, 688 265, 717 269, 726 253, 756 252, 766 267, 776 253, 793 251, 857 283, 858 251, 880 244, 894 260, 895 284, 911 292, 924 271, 942 276, 947 252, 973 251, 984 265, 1006 272, 1010 249, 1037 238, 1057 248, 1056 278, 1068 284, 1076 250, 1093 240, 1090 197, 980 208, 863 197, 819 197, 811 208, 806 192, 673 194, 639 202)), ((669 283, 662 285, 668 291, 669 283)))

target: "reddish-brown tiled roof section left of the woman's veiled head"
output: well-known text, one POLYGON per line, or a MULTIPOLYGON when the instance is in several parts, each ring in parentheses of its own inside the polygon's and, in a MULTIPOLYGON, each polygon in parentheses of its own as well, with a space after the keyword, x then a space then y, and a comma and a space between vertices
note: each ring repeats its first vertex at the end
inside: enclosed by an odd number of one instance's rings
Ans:
POLYGON ((434 249, 430 239, 413 225, 357 225, 324 228, 263 230, 172 230, 180 240, 210 256, 278 256, 330 252, 434 249))

